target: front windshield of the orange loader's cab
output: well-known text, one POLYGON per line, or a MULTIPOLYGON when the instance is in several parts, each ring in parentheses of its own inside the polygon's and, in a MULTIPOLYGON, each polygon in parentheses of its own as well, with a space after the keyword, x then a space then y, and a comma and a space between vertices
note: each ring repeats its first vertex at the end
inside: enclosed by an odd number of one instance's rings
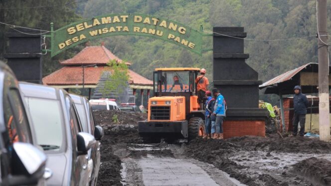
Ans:
POLYGON ((189 71, 162 71, 155 78, 156 90, 162 92, 190 92, 189 71))

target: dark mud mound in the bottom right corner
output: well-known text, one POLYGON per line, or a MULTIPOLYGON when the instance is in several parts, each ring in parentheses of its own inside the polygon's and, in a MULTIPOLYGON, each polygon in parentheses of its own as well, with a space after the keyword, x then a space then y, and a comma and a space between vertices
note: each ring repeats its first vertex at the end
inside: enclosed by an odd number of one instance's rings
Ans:
POLYGON ((326 159, 309 158, 295 164, 293 169, 316 185, 331 185, 331 162, 326 159))

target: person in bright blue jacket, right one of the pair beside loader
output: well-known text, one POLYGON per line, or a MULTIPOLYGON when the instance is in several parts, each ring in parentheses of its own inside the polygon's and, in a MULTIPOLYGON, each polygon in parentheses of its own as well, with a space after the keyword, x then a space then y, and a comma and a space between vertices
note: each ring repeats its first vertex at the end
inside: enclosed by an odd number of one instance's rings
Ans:
POLYGON ((216 131, 213 139, 223 139, 223 120, 225 118, 225 100, 222 94, 219 93, 217 88, 212 90, 213 95, 216 98, 213 115, 216 116, 216 131))

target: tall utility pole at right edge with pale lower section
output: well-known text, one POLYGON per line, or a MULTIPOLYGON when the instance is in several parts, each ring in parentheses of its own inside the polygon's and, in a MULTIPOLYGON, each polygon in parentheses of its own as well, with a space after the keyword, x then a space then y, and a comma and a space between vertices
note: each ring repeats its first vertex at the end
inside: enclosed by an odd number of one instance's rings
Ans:
POLYGON ((327 0, 317 0, 317 30, 319 53, 319 115, 320 139, 330 140, 330 104, 329 104, 329 52, 327 32, 327 0))

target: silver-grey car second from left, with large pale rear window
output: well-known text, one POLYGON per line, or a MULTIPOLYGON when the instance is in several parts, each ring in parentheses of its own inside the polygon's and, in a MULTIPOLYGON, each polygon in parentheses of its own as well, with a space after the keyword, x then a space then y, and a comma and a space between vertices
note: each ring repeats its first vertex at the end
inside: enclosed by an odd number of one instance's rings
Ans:
POLYGON ((88 150, 95 145, 93 135, 83 132, 76 107, 63 89, 20 82, 31 113, 37 143, 53 171, 48 186, 86 186, 89 184, 88 150))

